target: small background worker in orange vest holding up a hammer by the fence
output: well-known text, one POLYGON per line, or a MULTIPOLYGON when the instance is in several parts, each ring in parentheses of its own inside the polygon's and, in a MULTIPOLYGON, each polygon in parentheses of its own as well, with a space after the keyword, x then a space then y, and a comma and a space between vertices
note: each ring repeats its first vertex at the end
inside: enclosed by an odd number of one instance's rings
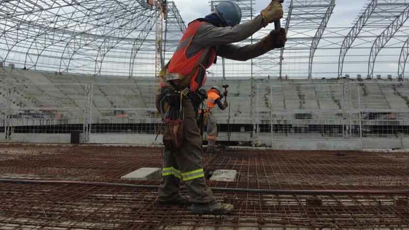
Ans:
POLYGON ((225 110, 229 104, 227 101, 222 103, 221 99, 225 97, 227 92, 221 93, 219 86, 213 86, 207 91, 205 116, 207 117, 207 142, 208 150, 212 151, 216 146, 217 140, 217 123, 212 116, 212 109, 217 105, 219 109, 225 110))

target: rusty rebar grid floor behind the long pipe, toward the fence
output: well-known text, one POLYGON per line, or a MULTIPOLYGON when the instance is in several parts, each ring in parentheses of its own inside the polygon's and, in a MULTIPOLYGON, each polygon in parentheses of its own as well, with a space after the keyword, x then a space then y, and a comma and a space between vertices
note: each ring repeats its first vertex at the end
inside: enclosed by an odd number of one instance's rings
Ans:
MULTIPOLYGON (((210 181, 213 187, 409 189, 406 153, 229 149, 204 154, 203 163, 206 171, 238 172, 236 181, 210 181)), ((141 167, 161 168, 161 149, 0 144, 0 178, 118 182, 141 167)))

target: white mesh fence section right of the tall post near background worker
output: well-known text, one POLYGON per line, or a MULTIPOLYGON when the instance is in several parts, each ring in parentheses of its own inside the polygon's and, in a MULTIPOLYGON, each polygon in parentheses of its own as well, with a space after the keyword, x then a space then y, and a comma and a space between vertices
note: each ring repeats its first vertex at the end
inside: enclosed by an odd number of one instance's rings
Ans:
POLYGON ((400 82, 258 84, 253 141, 408 138, 408 96, 400 82))

